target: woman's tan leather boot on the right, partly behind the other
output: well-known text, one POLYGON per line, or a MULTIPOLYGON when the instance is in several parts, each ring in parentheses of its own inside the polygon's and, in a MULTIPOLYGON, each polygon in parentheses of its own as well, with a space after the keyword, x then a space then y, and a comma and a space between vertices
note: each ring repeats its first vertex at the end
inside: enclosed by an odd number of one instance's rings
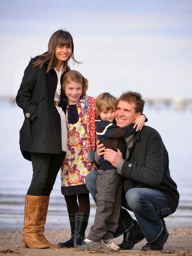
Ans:
POLYGON ((38 238, 42 243, 48 244, 50 248, 57 248, 59 247, 58 244, 51 244, 50 242, 47 241, 47 239, 43 235, 45 230, 44 226, 47 218, 48 205, 49 205, 49 197, 40 196, 36 231, 38 234, 38 238))

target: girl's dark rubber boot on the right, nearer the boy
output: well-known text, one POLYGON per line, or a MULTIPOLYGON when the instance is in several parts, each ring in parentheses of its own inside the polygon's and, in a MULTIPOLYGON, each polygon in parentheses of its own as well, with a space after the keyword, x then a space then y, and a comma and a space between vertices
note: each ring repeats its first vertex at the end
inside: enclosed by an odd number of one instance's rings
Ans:
POLYGON ((89 220, 89 214, 76 213, 74 247, 84 245, 83 240, 85 239, 85 230, 88 225, 88 220, 89 220))

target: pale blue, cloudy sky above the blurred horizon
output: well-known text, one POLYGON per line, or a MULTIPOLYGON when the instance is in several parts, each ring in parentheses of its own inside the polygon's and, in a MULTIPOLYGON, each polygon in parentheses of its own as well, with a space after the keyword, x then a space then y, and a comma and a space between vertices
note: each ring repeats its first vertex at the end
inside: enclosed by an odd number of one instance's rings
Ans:
POLYGON ((1 0, 0 14, 0 95, 17 94, 30 56, 63 28, 88 95, 192 98, 191 0, 1 0))

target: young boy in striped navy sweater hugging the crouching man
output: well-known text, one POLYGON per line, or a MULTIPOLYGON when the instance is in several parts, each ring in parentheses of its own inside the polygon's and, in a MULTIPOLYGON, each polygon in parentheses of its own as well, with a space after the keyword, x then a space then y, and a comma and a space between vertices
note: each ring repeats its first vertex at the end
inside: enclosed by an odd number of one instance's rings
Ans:
MULTIPOLYGON (((133 135, 136 131, 134 123, 119 127, 113 124, 115 109, 118 99, 110 93, 101 93, 95 102, 97 112, 96 132, 97 140, 104 144, 105 148, 115 151, 119 149, 123 153, 123 140, 133 135)), ((95 220, 87 239, 92 242, 101 242, 114 250, 120 247, 113 241, 113 233, 118 227, 121 210, 122 180, 117 169, 103 156, 99 159, 100 170, 97 177, 97 209, 95 220)))

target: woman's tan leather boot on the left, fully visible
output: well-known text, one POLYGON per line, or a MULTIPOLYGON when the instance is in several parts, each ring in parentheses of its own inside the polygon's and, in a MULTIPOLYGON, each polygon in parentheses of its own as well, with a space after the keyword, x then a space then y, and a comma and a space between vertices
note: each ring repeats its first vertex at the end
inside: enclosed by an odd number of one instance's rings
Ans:
POLYGON ((25 195, 25 215, 22 236, 22 245, 25 248, 46 249, 49 244, 44 244, 38 239, 37 218, 40 196, 25 195))

